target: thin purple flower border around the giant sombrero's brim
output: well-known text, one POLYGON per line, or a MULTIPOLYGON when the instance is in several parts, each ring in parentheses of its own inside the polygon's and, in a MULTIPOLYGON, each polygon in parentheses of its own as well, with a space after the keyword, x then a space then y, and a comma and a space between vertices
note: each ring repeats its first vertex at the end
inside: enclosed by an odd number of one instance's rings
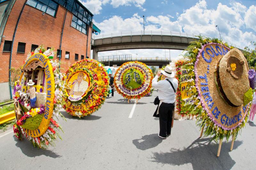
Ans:
POLYGON ((237 124, 235 127, 233 127, 233 128, 227 128, 227 127, 223 126, 222 124, 218 123, 217 120, 214 118, 214 116, 211 114, 211 112, 208 110, 208 108, 205 106, 204 100, 203 100, 204 97, 202 97, 202 95, 201 95, 201 93, 200 93, 200 89, 199 89, 199 87, 198 87, 197 64, 198 64, 198 61, 199 61, 199 57, 201 56, 201 54, 202 54, 202 52, 203 52, 205 46, 211 45, 211 44, 219 45, 219 46, 225 47, 225 48, 227 48, 228 50, 230 50, 230 48, 228 48, 228 47, 226 47, 226 46, 224 46, 224 45, 222 45, 222 44, 219 44, 219 43, 207 43, 207 44, 204 44, 204 45, 202 46, 201 50, 198 52, 198 55, 196 56, 196 62, 195 62, 195 66, 194 66, 194 69, 195 69, 195 76, 196 76, 196 79, 195 79, 196 90, 197 90, 197 92, 198 92, 198 96, 199 96, 199 98, 200 98, 200 102, 201 102, 201 104, 202 104, 203 109, 206 111, 207 115, 208 115, 208 116, 210 117, 210 119, 214 122, 214 124, 217 125, 218 127, 222 128, 222 129, 224 129, 224 130, 233 130, 233 129, 235 129, 236 127, 238 127, 239 125, 241 125, 241 123, 244 121, 244 118, 245 118, 245 116, 246 116, 246 114, 247 114, 246 112, 248 112, 249 106, 247 106, 246 111, 245 111, 245 114, 244 114, 244 117, 242 117, 241 122, 238 123, 238 124, 237 124))

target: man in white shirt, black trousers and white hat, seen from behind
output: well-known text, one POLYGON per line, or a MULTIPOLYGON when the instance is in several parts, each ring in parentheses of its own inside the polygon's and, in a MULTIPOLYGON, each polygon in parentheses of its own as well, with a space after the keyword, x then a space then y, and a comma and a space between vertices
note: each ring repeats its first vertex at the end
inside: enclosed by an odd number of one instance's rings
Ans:
POLYGON ((156 115, 159 114, 160 124, 158 136, 163 139, 166 139, 167 135, 171 135, 172 113, 175 107, 175 93, 178 88, 178 80, 174 78, 174 76, 175 74, 172 72, 172 67, 166 66, 164 70, 157 72, 152 80, 152 87, 158 89, 158 98, 160 100, 156 109, 156 115), (161 74, 165 76, 165 80, 157 81, 161 74))

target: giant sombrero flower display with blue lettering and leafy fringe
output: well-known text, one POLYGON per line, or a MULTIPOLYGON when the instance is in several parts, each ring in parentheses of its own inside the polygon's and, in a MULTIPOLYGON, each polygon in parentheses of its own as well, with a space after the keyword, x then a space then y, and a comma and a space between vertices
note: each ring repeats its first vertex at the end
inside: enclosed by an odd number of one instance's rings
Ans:
POLYGON ((206 136, 227 140, 231 135, 236 137, 245 126, 252 100, 244 55, 219 39, 202 36, 191 42, 187 51, 187 60, 178 63, 177 73, 179 83, 186 83, 188 101, 179 103, 181 96, 177 96, 179 111, 192 108, 206 136))

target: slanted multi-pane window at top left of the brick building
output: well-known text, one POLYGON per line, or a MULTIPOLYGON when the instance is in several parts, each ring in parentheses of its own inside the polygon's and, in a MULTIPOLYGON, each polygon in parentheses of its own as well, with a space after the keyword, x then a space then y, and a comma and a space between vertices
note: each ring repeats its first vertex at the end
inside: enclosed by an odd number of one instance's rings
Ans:
POLYGON ((55 17, 58 4, 52 0, 28 0, 27 4, 55 17))

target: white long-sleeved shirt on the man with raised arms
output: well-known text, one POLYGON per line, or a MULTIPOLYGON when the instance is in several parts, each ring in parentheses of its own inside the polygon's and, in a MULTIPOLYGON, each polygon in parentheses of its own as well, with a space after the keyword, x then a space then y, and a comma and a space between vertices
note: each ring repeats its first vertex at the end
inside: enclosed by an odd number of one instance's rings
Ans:
MULTIPOLYGON (((156 75, 152 80, 152 87, 158 89, 158 98, 164 103, 174 103, 175 102, 175 92, 172 89, 171 84, 167 80, 157 81, 158 76, 156 75)), ((178 80, 175 78, 165 78, 172 82, 174 89, 177 91, 178 80)))

